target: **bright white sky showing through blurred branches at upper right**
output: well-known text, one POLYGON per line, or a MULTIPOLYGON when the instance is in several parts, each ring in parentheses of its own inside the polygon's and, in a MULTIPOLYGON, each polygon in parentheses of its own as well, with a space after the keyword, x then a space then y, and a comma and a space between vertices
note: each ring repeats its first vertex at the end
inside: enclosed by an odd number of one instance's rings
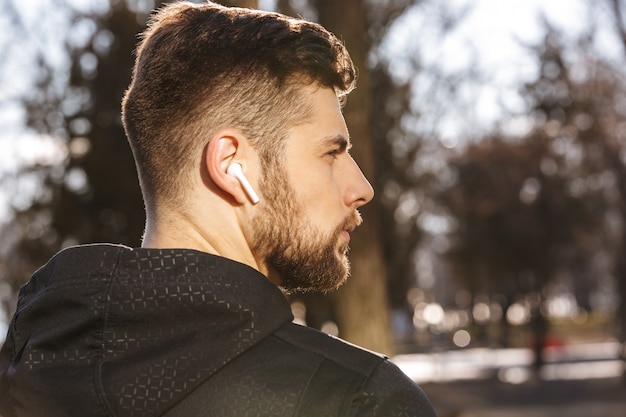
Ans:
MULTIPOLYGON (((541 41, 543 17, 562 31, 567 40, 576 39, 590 22, 597 22, 596 50, 609 59, 623 60, 624 51, 614 35, 606 1, 595 1, 593 7, 591 3, 589 0, 447 0, 443 4, 451 10, 466 10, 449 34, 442 36, 437 24, 424 20, 416 8, 394 27, 385 50, 400 78, 413 76, 412 70, 401 64, 401 58, 417 53, 425 65, 437 65, 448 72, 471 68, 488 80, 477 86, 468 84, 457 92, 459 98, 466 96, 472 117, 467 108, 455 110, 451 105, 440 122, 443 140, 453 147, 467 132, 490 130, 501 121, 502 104, 512 111, 524 111, 519 85, 537 75, 536 58, 524 45, 541 41)), ((428 88, 427 82, 424 85, 428 88)), ((520 118, 510 119, 504 128, 513 132, 528 126, 528 120, 520 118)))

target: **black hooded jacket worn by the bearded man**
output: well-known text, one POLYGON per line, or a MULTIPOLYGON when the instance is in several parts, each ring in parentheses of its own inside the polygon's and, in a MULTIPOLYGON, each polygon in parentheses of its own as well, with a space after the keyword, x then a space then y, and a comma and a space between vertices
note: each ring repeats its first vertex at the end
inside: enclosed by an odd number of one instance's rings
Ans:
POLYGON ((292 323, 258 271, 183 249, 66 249, 20 291, 3 417, 434 416, 386 358, 292 323))

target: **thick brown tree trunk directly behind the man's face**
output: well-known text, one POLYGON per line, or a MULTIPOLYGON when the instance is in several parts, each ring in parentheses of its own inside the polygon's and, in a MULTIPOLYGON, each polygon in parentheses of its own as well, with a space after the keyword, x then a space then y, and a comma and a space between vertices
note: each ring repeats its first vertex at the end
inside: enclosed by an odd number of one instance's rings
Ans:
MULTIPOLYGON (((319 22, 342 39, 359 72, 357 88, 349 98, 344 116, 354 143, 352 155, 365 176, 375 183, 371 81, 367 55, 371 41, 362 0, 317 0, 319 22)), ((335 294, 335 312, 341 337, 360 346, 393 354, 387 297, 387 276, 380 234, 379 201, 364 206, 363 225, 351 241, 352 276, 335 294)))

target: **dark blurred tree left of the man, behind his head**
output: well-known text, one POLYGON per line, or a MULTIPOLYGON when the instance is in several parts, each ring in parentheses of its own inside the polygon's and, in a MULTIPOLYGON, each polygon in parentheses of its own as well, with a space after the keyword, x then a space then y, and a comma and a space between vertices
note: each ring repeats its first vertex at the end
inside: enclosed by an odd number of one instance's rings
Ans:
POLYGON ((19 173, 18 184, 27 178, 38 186, 32 195, 14 199, 20 203, 2 226, 7 239, 0 278, 14 290, 68 245, 137 246, 141 240, 143 202, 120 102, 130 82, 137 33, 150 10, 134 0, 102 6, 58 5, 69 22, 66 32, 58 33, 68 66, 43 59, 45 51, 39 50, 36 88, 23 98, 28 127, 57 139, 64 157, 24 165, 19 173))

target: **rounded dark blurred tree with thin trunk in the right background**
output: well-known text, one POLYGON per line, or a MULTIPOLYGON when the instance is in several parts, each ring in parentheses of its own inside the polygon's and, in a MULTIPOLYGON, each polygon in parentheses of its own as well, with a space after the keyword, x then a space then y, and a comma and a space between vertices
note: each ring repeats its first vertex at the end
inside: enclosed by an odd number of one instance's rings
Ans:
POLYGON ((570 178, 549 148, 541 130, 525 141, 483 139, 451 160, 459 182, 441 195, 458 225, 449 252, 455 276, 475 298, 504 300, 505 311, 519 297, 530 302, 537 367, 548 330, 545 289, 574 260, 589 260, 589 241, 603 225, 603 200, 569 194, 570 178))

